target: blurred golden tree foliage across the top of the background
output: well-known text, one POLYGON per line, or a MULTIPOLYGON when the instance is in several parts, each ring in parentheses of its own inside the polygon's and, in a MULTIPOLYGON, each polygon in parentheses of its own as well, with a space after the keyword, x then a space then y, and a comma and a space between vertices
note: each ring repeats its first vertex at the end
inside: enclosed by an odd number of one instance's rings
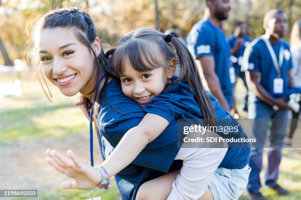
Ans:
MULTIPOLYGON (((288 15, 289 30, 285 39, 289 40, 292 25, 301 18, 301 0, 231 0, 231 5, 229 20, 223 26, 227 35, 232 33, 237 20, 246 22, 252 38, 263 34, 264 14, 271 8, 279 8, 288 15)), ((0 64, 12 65, 12 60, 26 57, 25 29, 30 19, 64 6, 88 11, 102 41, 112 45, 138 26, 150 26, 163 32, 179 28, 185 37, 192 25, 203 18, 205 0, 0 0, 0 49, 6 50, 6 55, 0 56, 0 64)))

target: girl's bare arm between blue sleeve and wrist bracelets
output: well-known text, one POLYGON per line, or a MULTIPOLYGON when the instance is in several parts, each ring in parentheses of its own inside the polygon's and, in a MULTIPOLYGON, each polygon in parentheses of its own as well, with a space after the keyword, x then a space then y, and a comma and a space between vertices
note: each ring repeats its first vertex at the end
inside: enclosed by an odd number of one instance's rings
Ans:
POLYGON ((129 129, 113 152, 106 158, 102 166, 109 176, 118 174, 128 166, 138 154, 154 139, 156 139, 169 122, 154 114, 146 114, 139 125, 129 129))

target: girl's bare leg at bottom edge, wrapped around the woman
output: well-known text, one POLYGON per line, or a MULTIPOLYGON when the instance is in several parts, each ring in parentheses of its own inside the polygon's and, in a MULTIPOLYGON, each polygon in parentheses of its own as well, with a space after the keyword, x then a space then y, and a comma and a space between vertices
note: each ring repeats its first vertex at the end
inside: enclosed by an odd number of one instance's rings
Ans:
MULTIPOLYGON (((162 175, 140 186, 136 200, 166 200, 172 191, 172 184, 176 180, 180 170, 162 175)), ((213 200, 213 196, 207 186, 205 192, 198 200, 213 200)))

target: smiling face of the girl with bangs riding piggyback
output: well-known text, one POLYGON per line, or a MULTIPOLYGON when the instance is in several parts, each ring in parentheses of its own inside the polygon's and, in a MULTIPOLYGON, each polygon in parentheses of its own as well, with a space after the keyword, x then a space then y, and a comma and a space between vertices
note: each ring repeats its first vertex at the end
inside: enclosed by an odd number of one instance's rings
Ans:
POLYGON ((164 74, 162 67, 138 72, 126 61, 120 75, 122 92, 144 106, 164 90, 167 81, 164 74))

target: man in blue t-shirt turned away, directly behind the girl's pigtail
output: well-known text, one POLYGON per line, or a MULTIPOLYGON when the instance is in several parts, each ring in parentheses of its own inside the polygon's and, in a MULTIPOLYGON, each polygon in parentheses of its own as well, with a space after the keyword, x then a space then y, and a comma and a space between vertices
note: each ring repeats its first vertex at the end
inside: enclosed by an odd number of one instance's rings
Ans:
MULTIPOLYGON (((206 5, 209 16, 192 27, 187 36, 187 46, 191 54, 200 61, 210 92, 225 110, 230 111, 233 96, 230 81, 230 47, 220 28, 221 22, 228 18, 230 2, 206 0, 206 5)), ((235 76, 234 70, 232 79, 233 75, 235 76)))

